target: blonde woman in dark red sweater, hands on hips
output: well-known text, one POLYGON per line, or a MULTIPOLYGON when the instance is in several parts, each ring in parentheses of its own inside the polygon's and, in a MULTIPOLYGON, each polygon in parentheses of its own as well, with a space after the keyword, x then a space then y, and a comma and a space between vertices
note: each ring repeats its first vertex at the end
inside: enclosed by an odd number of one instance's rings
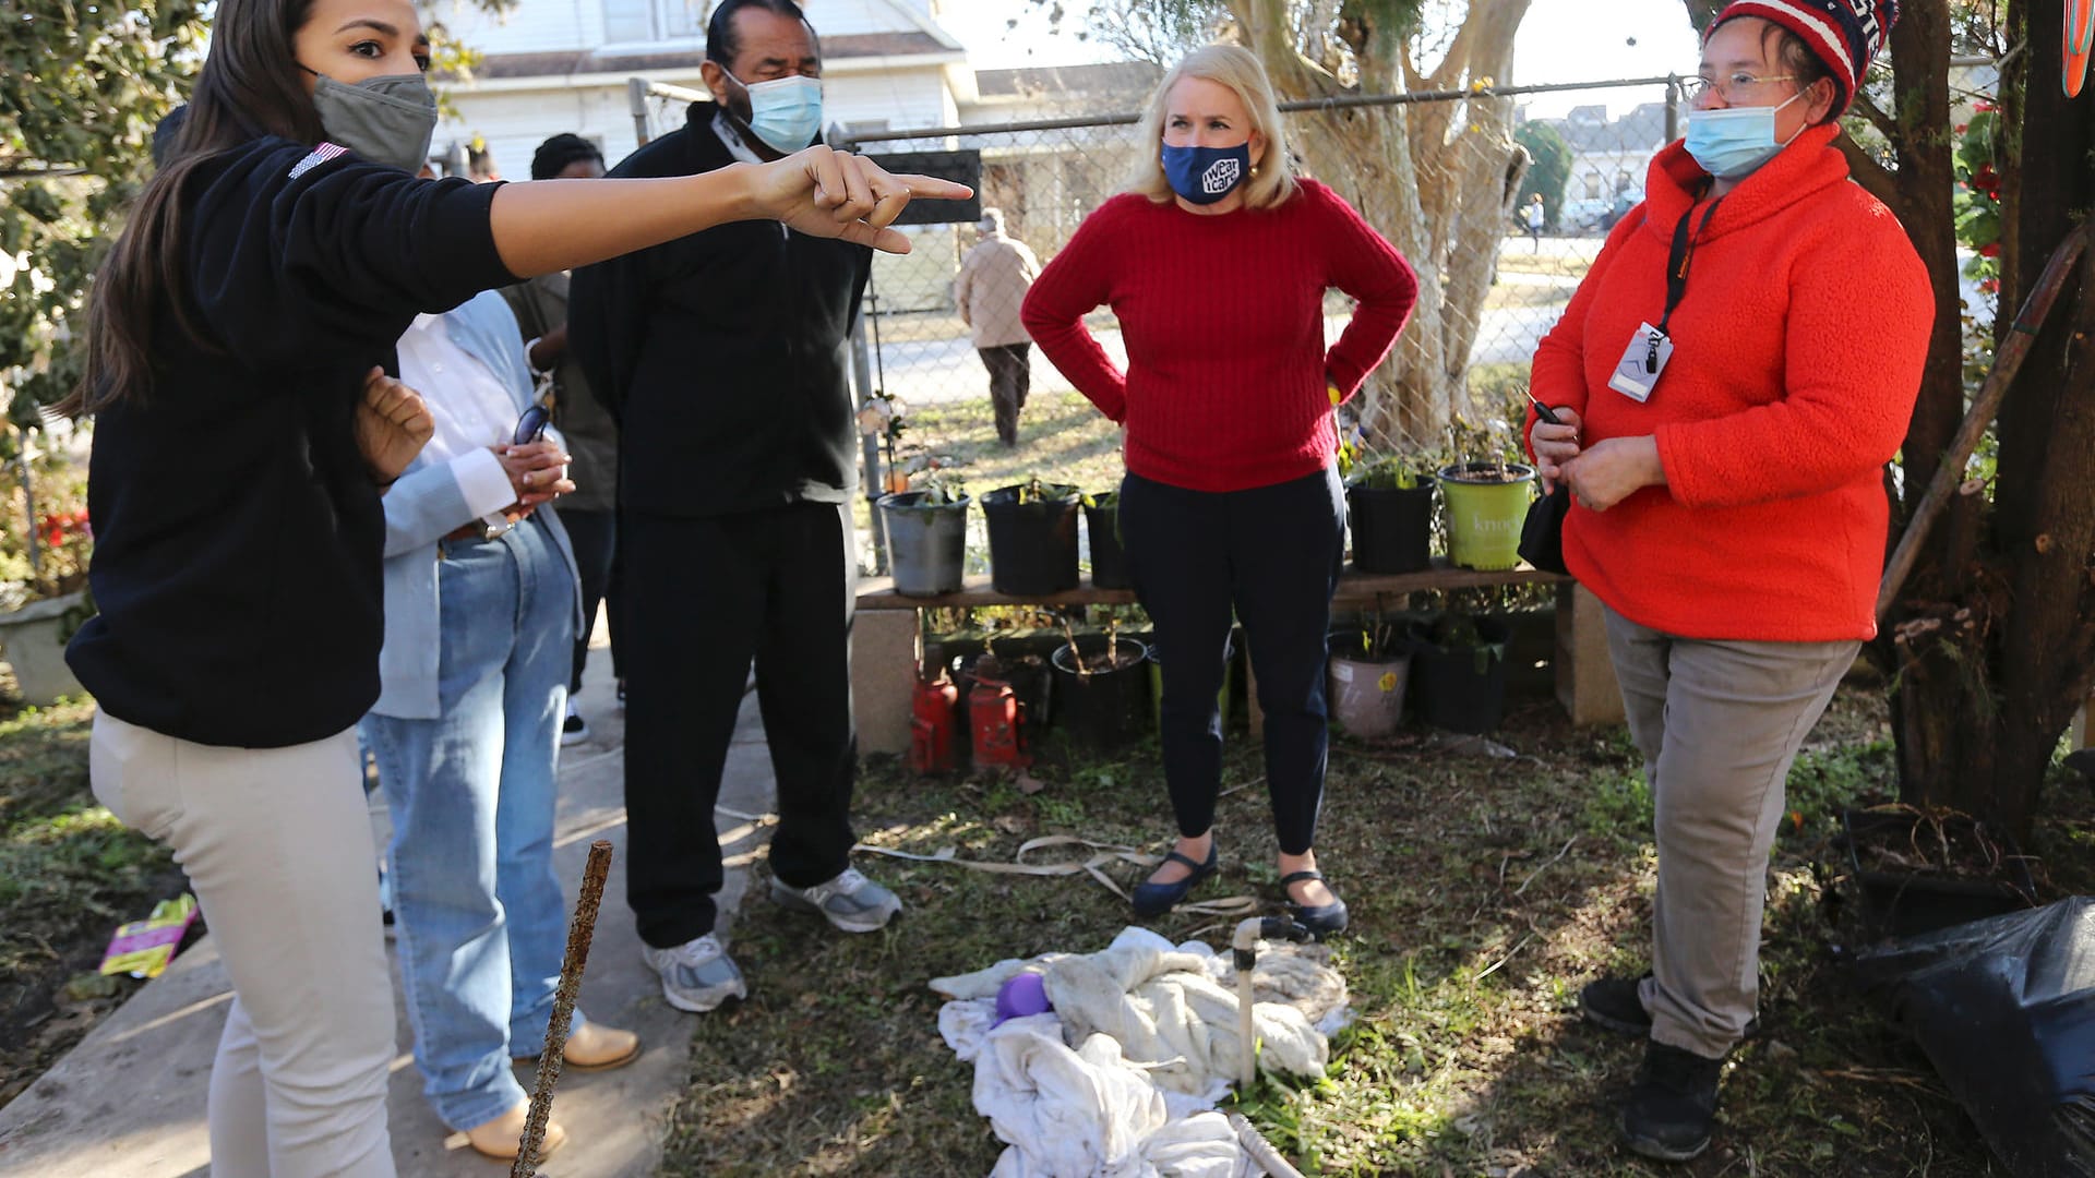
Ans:
POLYGON ((1179 838, 1135 889, 1161 916, 1215 874, 1215 794, 1232 610, 1265 711, 1280 880, 1297 918, 1345 929, 1316 870, 1324 797, 1324 631, 1345 543, 1332 405, 1389 352, 1410 266, 1343 199, 1288 174, 1272 84, 1236 46, 1177 63, 1150 96, 1159 153, 1077 228, 1024 302, 1027 331, 1127 430, 1121 537, 1156 625, 1165 782, 1179 838), (1324 289, 1358 300, 1324 348, 1324 289), (1083 314, 1121 319, 1127 371, 1083 314))

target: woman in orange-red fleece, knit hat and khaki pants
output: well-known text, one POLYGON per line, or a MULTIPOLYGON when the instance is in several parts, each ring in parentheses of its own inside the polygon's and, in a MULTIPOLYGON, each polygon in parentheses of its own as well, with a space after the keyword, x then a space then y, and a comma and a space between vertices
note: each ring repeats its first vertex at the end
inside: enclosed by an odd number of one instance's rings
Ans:
POLYGON ((1686 140, 1651 161, 1645 205, 1536 352, 1563 423, 1529 417, 1529 444, 1571 486, 1565 564, 1607 606, 1657 811, 1653 973, 1580 1000, 1647 1040, 1624 1132, 1649 1157, 1710 1142, 1758 1000, 1783 780, 1877 633, 1883 463, 1934 296, 1833 138, 1894 17, 1890 0, 1724 8, 1686 140))

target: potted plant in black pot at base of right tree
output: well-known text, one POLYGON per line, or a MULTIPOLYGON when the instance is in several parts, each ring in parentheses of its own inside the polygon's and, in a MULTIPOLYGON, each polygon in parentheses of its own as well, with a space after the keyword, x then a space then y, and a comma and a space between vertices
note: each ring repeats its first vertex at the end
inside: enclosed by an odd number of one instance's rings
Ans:
POLYGON ((1917 937, 2036 903, 2030 864, 2013 838, 1967 813, 1848 809, 1835 843, 1877 937, 1917 937))

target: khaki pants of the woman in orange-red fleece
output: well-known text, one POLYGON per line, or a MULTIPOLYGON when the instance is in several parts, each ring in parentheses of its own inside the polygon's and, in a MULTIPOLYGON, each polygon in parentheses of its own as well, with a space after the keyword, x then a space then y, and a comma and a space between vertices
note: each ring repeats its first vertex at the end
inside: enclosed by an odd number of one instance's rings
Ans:
POLYGON ((1783 784, 1860 643, 1684 639, 1607 610, 1607 650, 1659 843, 1651 1038, 1722 1059, 1760 998, 1783 784))

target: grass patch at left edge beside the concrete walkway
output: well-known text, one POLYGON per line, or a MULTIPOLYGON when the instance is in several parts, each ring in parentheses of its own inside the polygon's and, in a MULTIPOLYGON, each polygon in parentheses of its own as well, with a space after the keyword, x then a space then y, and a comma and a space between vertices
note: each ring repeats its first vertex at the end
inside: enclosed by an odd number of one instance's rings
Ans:
POLYGON ((94 968, 117 924, 180 893, 168 853, 88 790, 92 719, 90 702, 0 719, 0 1105, 134 985, 75 1002, 65 981, 94 968))

